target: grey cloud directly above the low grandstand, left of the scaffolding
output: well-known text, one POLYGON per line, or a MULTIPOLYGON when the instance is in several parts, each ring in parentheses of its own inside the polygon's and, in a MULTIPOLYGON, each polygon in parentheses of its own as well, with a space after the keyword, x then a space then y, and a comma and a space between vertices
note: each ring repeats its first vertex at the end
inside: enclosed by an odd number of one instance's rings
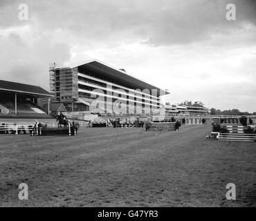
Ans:
POLYGON ((33 32, 29 26, 0 30, 1 79, 37 84, 48 88, 48 66, 70 59, 66 44, 52 44, 51 39, 33 32))

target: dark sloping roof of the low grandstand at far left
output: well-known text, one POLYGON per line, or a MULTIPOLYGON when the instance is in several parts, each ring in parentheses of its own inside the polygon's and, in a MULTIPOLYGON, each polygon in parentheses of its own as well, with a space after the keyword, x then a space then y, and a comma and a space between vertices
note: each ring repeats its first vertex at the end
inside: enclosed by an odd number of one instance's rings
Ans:
POLYGON ((24 93, 33 95, 35 97, 53 97, 48 91, 39 86, 30 84, 21 84, 12 81, 0 80, 0 91, 6 91, 10 93, 24 93))

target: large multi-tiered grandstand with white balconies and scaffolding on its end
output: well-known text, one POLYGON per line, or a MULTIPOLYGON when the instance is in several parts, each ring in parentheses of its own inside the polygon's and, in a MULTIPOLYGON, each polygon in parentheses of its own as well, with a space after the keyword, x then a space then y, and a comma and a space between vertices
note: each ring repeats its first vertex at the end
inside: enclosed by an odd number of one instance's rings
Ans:
POLYGON ((170 93, 95 59, 52 66, 50 89, 68 111, 109 115, 164 115, 161 96, 170 93))

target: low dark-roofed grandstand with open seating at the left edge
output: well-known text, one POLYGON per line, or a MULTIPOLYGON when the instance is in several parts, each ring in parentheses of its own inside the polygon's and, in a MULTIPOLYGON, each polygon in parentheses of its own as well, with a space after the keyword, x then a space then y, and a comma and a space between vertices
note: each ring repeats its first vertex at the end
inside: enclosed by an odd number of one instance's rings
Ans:
POLYGON ((0 118, 51 118, 37 99, 53 97, 39 86, 0 80, 0 118))

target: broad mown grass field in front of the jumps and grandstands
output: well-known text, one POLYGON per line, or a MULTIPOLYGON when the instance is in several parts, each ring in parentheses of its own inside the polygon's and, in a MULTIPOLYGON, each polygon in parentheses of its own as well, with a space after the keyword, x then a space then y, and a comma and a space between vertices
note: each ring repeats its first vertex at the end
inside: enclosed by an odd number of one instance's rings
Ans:
POLYGON ((181 131, 80 128, 0 135, 0 206, 256 206, 256 145, 181 131), (28 200, 18 185, 28 184, 28 200), (226 200, 234 183, 237 200, 226 200))

